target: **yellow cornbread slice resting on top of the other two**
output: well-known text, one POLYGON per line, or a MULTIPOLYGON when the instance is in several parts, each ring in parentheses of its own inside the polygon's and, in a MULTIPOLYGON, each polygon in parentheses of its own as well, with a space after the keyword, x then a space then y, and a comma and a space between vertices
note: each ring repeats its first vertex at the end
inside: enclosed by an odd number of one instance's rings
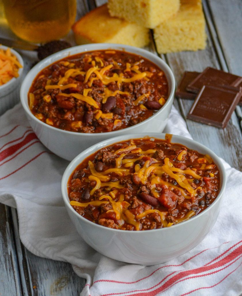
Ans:
POLYGON ((153 29, 176 14, 180 0, 108 0, 111 16, 153 29))

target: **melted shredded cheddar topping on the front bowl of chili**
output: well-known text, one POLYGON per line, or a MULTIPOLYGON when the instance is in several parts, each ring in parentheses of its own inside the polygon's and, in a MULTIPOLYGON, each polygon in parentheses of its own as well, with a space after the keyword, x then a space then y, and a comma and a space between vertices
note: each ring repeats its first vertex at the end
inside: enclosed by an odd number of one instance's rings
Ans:
MULTIPOLYGON (((128 66, 129 65, 127 65, 127 67, 128 66)), ((84 92, 85 95, 87 95, 88 89, 84 90, 84 92)), ((160 217, 159 221, 162 224, 162 227, 170 227, 174 223, 177 224, 182 221, 186 221, 194 216, 196 214, 194 210, 189 210, 180 218, 174 218, 174 222, 169 222, 169 220, 167 220, 168 212, 156 208, 151 208, 148 210, 146 209, 141 213, 138 212, 137 214, 133 213, 132 208, 130 208, 131 204, 128 201, 125 201, 125 195, 120 193, 120 190, 124 189, 126 185, 120 183, 120 180, 117 179, 117 181, 110 181, 113 173, 115 173, 116 176, 120 178, 133 174, 135 177, 131 176, 130 178, 140 180, 140 184, 143 185, 148 183, 153 198, 157 200, 159 200, 162 195, 161 189, 159 189, 161 187, 159 186, 165 186, 164 188, 169 189, 171 193, 174 191, 182 198, 191 200, 193 197, 197 196, 198 190, 202 188, 197 186, 194 189, 192 184, 194 180, 200 180, 202 177, 196 172, 196 168, 186 168, 184 170, 176 168, 176 163, 169 157, 165 157, 163 160, 155 159, 154 156, 157 152, 156 149, 142 150, 136 146, 135 141, 131 140, 129 143, 129 145, 126 144, 124 147, 121 146, 121 148, 112 150, 112 154, 115 155, 114 167, 109 167, 98 172, 95 169, 94 163, 89 160, 88 167, 91 175, 88 176, 86 182, 95 181, 94 185, 91 187, 92 189, 90 190, 90 196, 93 196, 97 190, 99 190, 99 192, 101 190, 98 200, 91 200, 84 203, 71 201, 70 204, 77 207, 86 207, 87 205, 100 206, 102 204, 109 203, 111 208, 109 207, 106 213, 115 215, 118 228, 122 229, 124 223, 128 223, 132 225, 137 231, 142 229, 142 220, 147 216, 150 217, 150 215, 152 217, 152 215, 155 213, 156 218, 157 214, 160 217), (127 154, 129 154, 129 157, 130 154, 138 154, 140 156, 134 158, 124 158, 127 154), (135 164, 136 161, 143 160, 143 158, 145 158, 145 161, 141 165, 135 164), (169 176, 168 181, 165 181, 167 179, 162 179, 164 174, 169 176), (171 182, 171 179, 177 183, 171 182)), ((186 156, 187 150, 182 150, 176 159, 178 162, 180 162, 184 160, 184 157, 186 156)), ((202 165, 204 166, 203 169, 206 170, 215 168, 215 165, 211 164, 212 158, 209 155, 206 155, 206 158, 197 158, 196 163, 198 167, 201 163, 201 159, 202 165), (207 159, 206 162, 209 162, 210 164, 206 166, 205 163, 203 163, 203 159, 207 159)), ((215 174, 209 173, 209 176, 210 178, 214 178, 215 174)))

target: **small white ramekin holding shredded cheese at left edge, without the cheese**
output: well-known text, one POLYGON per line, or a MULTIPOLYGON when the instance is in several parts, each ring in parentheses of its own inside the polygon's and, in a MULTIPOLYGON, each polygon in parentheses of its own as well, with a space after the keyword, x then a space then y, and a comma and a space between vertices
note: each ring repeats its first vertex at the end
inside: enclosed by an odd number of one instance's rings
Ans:
MULTIPOLYGON (((8 47, 4 45, 1 45, 0 48, 4 50, 8 49, 8 47)), ((23 67, 19 68, 19 76, 17 78, 14 77, 7 83, 0 86, 0 115, 19 102, 19 89, 22 81, 24 61, 15 50, 10 49, 10 51, 17 57, 19 63, 23 67)))

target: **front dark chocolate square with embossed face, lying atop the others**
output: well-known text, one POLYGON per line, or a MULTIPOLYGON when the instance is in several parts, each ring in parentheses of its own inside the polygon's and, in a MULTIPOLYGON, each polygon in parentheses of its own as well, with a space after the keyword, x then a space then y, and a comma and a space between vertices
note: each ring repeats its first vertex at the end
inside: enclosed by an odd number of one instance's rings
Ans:
POLYGON ((225 128, 241 98, 242 91, 205 85, 192 105, 188 119, 225 128))

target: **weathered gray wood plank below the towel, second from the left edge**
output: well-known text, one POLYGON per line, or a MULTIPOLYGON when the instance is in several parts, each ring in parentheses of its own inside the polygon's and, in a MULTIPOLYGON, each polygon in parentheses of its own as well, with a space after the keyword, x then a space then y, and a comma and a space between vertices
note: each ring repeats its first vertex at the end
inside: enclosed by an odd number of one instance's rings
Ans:
POLYGON ((29 252, 19 238, 17 211, 12 208, 11 212, 23 295, 79 295, 85 280, 74 273, 71 264, 41 258, 29 252))

